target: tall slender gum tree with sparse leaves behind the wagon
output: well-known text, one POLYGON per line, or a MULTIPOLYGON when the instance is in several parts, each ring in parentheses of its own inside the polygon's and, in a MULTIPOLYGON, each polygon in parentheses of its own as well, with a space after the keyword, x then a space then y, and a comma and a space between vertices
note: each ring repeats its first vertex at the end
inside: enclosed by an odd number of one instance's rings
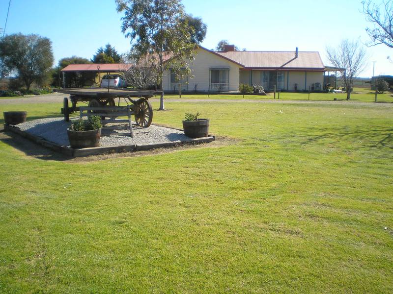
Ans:
POLYGON ((163 74, 171 68, 177 75, 191 76, 189 63, 194 60, 195 44, 190 27, 182 22, 184 7, 180 0, 116 0, 117 11, 124 12, 122 31, 132 40, 131 55, 135 60, 146 56, 157 58, 161 85, 160 108, 164 109, 163 74), (170 56, 164 66, 164 58, 170 56))

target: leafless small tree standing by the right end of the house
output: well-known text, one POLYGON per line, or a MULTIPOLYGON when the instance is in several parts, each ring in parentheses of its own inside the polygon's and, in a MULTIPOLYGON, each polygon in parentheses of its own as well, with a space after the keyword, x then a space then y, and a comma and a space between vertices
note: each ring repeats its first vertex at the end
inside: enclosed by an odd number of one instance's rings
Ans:
POLYGON ((337 49, 326 48, 329 61, 340 68, 338 72, 347 92, 347 100, 351 97, 353 80, 366 67, 366 51, 359 41, 342 40, 337 49))

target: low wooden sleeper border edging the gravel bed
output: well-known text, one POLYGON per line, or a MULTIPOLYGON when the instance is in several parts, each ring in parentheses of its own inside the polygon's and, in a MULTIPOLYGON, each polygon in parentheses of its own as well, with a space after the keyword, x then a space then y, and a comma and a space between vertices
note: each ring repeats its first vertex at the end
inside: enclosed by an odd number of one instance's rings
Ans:
POLYGON ((202 143, 210 143, 215 140, 215 136, 208 136, 203 138, 191 139, 190 141, 173 141, 165 143, 151 143, 145 145, 113 145, 103 147, 89 147, 89 148, 71 148, 68 146, 60 146, 56 143, 45 140, 40 136, 29 134, 26 131, 21 130, 15 125, 4 124, 4 131, 10 131, 17 135, 20 135, 34 143, 43 147, 52 149, 56 152, 60 152, 69 157, 84 157, 108 153, 121 153, 121 152, 135 152, 135 151, 146 151, 151 149, 163 148, 163 147, 177 147, 182 145, 196 145, 202 143))

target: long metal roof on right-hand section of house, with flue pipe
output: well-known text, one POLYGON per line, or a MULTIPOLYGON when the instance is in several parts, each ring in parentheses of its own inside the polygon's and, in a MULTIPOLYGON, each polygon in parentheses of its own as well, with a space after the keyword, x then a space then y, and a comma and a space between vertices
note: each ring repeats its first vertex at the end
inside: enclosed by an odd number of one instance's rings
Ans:
POLYGON ((243 65, 247 69, 325 69, 319 52, 299 51, 228 51, 217 54, 243 65))

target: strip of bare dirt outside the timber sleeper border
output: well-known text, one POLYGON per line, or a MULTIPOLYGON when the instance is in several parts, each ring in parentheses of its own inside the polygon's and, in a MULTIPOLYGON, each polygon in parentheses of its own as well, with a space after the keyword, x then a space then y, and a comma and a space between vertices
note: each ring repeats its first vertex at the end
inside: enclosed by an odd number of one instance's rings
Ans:
POLYGON ((9 133, 9 132, 0 133, 0 142, 3 142, 11 147, 14 147, 20 153, 30 158, 41 159, 41 160, 64 161, 67 163, 88 163, 92 161, 112 159, 112 158, 128 158, 128 157, 147 156, 147 155, 160 155, 160 154, 177 152, 187 149, 224 147, 224 146, 236 144, 239 142, 239 140, 229 137, 216 137, 215 141, 211 143, 203 143, 198 145, 183 145, 178 147, 157 148, 148 151, 110 153, 110 154, 101 154, 101 155, 77 157, 77 158, 70 158, 51 149, 42 147, 14 133, 9 133))

